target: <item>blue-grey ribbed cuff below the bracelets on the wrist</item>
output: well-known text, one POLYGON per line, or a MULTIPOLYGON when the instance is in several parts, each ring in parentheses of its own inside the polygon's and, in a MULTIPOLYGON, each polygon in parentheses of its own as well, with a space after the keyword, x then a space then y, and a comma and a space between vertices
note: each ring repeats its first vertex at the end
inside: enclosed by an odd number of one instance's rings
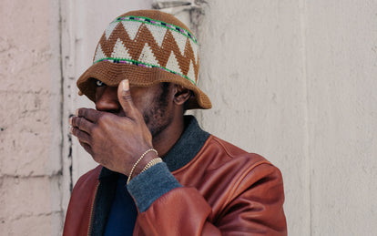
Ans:
POLYGON ((162 162, 138 174, 127 185, 128 192, 136 200, 140 212, 148 210, 150 205, 169 190, 182 187, 162 162))

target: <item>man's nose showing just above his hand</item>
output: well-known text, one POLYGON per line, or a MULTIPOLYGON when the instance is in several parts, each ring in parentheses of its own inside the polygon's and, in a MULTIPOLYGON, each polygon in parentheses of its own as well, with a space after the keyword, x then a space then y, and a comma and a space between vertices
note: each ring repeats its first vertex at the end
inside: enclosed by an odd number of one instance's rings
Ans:
POLYGON ((96 109, 112 113, 119 112, 120 104, 117 99, 117 87, 97 87, 96 109))

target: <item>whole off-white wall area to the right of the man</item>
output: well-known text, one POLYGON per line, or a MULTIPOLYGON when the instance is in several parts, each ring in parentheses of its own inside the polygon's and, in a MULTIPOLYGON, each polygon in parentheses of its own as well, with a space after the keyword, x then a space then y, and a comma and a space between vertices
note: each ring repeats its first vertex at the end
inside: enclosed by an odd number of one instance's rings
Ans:
POLYGON ((204 128, 281 169, 290 235, 373 235, 377 2, 208 3, 204 128))

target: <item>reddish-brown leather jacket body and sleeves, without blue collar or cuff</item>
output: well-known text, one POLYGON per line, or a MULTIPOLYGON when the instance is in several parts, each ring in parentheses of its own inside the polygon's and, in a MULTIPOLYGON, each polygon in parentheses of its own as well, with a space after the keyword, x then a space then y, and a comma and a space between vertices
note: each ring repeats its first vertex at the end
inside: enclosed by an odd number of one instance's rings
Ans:
MULTIPOLYGON (((101 169, 77 181, 64 236, 90 234, 101 169)), ((172 174, 183 187, 139 212, 134 235, 287 235, 280 170, 259 155, 209 136, 172 174)))

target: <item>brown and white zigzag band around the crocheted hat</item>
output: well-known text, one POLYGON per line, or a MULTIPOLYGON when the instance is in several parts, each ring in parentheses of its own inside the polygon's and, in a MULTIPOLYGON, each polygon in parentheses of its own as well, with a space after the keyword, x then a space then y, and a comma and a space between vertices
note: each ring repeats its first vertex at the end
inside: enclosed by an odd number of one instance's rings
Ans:
POLYGON ((198 82, 199 47, 189 31, 147 17, 119 17, 101 37, 94 63, 158 67, 198 82))

